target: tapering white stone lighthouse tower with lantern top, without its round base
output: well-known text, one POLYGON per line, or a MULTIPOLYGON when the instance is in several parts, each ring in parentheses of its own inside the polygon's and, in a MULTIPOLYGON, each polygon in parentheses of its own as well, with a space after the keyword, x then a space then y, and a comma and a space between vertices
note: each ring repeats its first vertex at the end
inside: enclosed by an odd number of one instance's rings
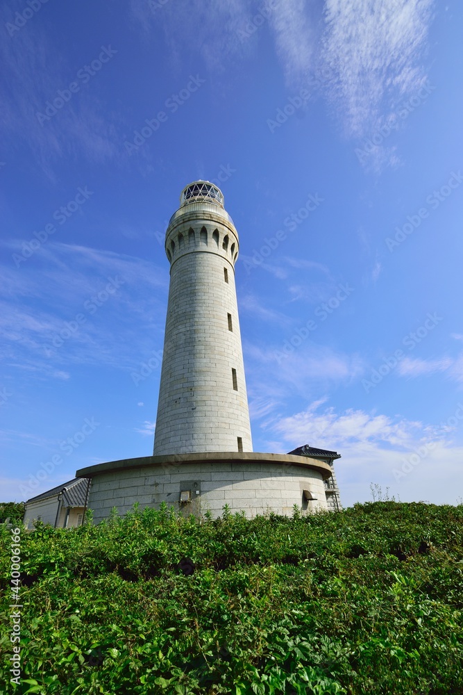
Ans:
POLYGON ((166 231, 171 264, 154 455, 251 452, 235 290, 238 234, 221 190, 194 181, 166 231))

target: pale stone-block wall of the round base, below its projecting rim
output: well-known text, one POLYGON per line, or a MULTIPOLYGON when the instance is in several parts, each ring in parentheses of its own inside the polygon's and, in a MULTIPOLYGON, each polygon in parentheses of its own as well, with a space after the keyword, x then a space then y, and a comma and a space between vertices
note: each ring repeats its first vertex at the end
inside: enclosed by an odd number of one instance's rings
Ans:
POLYGON ((161 502, 179 507, 180 491, 192 491, 192 505, 187 513, 204 514, 208 509, 214 517, 221 516, 228 504, 232 513, 246 516, 264 514, 292 515, 293 505, 305 512, 327 509, 321 473, 311 468, 271 464, 266 461, 243 463, 197 463, 143 466, 103 473, 94 477, 88 506, 94 512, 94 523, 108 518, 112 507, 125 514, 135 502, 140 507, 160 507, 161 502), (195 494, 195 486, 199 494, 195 494), (303 502, 308 489, 314 502, 303 502))

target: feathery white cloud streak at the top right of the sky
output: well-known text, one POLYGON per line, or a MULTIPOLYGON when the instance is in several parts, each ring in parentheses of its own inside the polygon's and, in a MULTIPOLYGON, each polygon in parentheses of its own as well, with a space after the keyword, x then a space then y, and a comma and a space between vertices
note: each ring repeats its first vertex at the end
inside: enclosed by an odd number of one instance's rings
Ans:
POLYGON ((328 99, 346 133, 368 135, 382 111, 426 81, 421 57, 434 0, 326 0, 323 60, 335 72, 328 99))

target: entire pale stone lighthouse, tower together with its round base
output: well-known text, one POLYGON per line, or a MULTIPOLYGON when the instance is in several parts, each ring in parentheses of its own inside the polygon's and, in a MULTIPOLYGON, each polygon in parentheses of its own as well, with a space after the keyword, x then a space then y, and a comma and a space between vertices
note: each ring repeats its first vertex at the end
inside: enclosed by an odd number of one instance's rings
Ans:
POLYGON ((235 263, 239 239, 221 190, 194 181, 166 231, 169 302, 152 456, 77 471, 97 523, 113 507, 162 502, 202 516, 339 509, 333 451, 253 452, 235 263))

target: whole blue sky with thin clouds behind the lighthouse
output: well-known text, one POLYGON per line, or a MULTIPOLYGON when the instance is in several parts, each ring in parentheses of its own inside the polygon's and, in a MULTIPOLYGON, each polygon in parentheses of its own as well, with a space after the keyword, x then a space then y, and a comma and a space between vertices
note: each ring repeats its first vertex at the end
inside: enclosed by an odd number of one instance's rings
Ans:
MULTIPOLYGON (((7 0, 2 501, 151 455, 181 190, 220 186, 253 449, 463 495, 463 6, 7 0)), ((376 488, 374 487, 376 486, 376 488)))

